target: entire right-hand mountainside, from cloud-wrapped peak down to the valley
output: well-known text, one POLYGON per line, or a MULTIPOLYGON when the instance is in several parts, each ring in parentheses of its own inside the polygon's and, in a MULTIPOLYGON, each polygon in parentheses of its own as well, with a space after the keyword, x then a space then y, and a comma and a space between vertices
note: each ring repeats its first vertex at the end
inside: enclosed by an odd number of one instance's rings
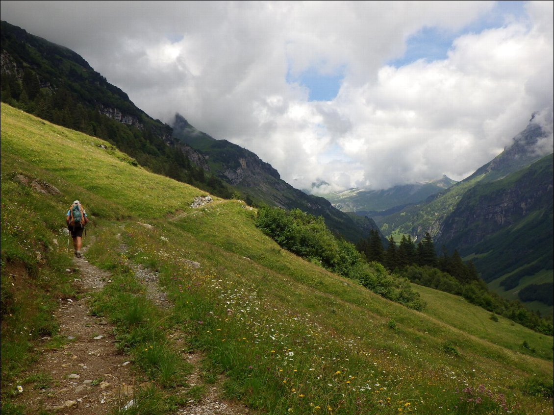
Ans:
MULTIPOLYGON (((536 151, 550 134, 550 127, 532 117, 512 146, 470 177, 425 203, 373 218, 386 235, 420 238, 428 231, 435 246, 471 259, 491 288, 507 298, 517 298, 522 289, 537 293, 538 284, 554 279, 552 154, 541 159, 536 151)), ((525 295, 527 303, 538 298, 525 295)), ((548 303, 542 298, 532 307, 551 314, 548 303)))

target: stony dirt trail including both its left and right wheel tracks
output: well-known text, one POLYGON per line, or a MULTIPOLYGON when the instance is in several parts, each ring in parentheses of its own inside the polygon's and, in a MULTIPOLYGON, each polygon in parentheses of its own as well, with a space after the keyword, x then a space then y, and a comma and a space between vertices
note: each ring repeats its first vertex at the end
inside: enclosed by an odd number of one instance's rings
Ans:
MULTIPOLYGON (((86 247, 83 248, 86 256, 86 247)), ((155 272, 130 264, 136 277, 147 287, 147 297, 162 308, 170 308, 165 293, 160 290, 155 272)), ((38 360, 23 373, 22 378, 34 376, 40 382, 25 386, 14 403, 24 404, 27 414, 41 410, 57 414, 102 415, 122 408, 133 399, 134 391, 141 384, 134 378, 130 356, 120 354, 115 346, 114 326, 102 318, 90 315, 90 293, 102 289, 110 282, 111 274, 93 266, 85 257, 74 258, 75 285, 79 299, 60 300, 55 318, 60 325, 59 335, 67 343, 58 349, 37 346, 38 360), (77 278, 79 277, 79 278, 77 278), (44 388, 41 388, 44 387, 44 388)), ((173 340, 184 341, 182 333, 172 334, 173 340)), ((183 357, 193 365, 188 378, 191 386, 203 384, 200 353, 186 353, 183 357)), ((189 402, 171 415, 249 415, 252 414, 240 402, 219 398, 220 383, 206 385, 206 394, 199 402, 189 402)), ((142 383, 145 385, 145 383, 142 383)), ((184 392, 175 390, 175 393, 184 392)))

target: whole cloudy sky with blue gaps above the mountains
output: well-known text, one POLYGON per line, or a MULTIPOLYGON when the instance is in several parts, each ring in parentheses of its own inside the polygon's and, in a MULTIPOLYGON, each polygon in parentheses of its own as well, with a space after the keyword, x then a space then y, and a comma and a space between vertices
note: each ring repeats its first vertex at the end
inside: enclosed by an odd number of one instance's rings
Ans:
POLYGON ((2 0, 1 15, 148 115, 331 191, 461 180, 533 112, 551 121, 553 4, 2 0))

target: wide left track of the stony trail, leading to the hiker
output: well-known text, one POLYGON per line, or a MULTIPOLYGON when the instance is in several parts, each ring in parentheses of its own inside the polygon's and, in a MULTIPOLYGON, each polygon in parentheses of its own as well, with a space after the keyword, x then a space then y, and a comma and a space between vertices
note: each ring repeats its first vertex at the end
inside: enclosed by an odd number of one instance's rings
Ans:
MULTIPOLYGON (((90 315, 86 295, 104 287, 110 273, 89 264, 84 257, 75 258, 74 265, 80 275, 75 284, 85 294, 80 299, 61 299, 53 315, 65 345, 57 349, 38 347, 38 361, 26 375, 41 381, 18 397, 18 403, 24 403, 29 414, 45 409, 99 415, 132 398, 135 382, 131 364, 115 347, 113 326, 90 315)), ((49 339, 43 340, 46 344, 49 339)))

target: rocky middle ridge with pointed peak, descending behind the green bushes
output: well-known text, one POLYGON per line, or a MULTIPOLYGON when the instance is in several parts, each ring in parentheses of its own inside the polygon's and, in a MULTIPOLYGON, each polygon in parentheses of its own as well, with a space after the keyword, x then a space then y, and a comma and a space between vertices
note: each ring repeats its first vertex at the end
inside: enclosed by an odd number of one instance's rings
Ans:
POLYGON ((206 158, 212 172, 239 189, 249 203, 266 203, 288 210, 300 209, 322 216, 332 231, 354 243, 368 237, 370 230, 378 230, 372 219, 352 218, 336 209, 328 200, 293 188, 281 180, 277 170, 253 152, 198 131, 178 114, 173 124, 173 136, 197 149, 206 158))

